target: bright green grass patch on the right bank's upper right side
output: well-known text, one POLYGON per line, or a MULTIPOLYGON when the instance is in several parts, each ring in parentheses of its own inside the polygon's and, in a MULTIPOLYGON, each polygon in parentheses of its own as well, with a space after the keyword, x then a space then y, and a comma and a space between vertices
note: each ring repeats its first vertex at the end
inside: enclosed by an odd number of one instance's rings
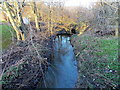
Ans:
POLYGON ((101 50, 101 52, 96 52, 97 56, 106 56, 109 69, 118 70, 118 39, 99 39, 99 47, 96 49, 101 50))

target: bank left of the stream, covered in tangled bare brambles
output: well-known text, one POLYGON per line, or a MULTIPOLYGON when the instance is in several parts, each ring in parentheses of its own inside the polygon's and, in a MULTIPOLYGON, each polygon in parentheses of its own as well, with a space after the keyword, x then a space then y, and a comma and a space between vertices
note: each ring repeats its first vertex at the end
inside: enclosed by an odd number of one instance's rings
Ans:
POLYGON ((51 60, 51 40, 41 32, 2 54, 2 89, 35 89, 51 60))

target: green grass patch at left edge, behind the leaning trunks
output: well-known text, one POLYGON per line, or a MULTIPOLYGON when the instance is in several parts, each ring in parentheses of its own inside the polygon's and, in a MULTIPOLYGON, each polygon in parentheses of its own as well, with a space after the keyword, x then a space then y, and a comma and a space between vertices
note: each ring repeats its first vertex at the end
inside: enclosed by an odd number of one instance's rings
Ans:
POLYGON ((14 30, 9 25, 0 25, 0 45, 2 45, 2 49, 6 49, 12 43, 12 33, 14 34, 14 30))

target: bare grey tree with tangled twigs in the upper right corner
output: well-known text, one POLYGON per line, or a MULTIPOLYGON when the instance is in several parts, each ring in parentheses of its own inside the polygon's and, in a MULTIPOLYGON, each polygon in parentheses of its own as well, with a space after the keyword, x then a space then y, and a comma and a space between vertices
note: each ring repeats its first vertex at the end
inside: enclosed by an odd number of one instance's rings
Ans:
POLYGON ((93 7, 95 27, 104 32, 115 31, 115 36, 118 36, 118 13, 119 2, 108 2, 101 0, 93 7))

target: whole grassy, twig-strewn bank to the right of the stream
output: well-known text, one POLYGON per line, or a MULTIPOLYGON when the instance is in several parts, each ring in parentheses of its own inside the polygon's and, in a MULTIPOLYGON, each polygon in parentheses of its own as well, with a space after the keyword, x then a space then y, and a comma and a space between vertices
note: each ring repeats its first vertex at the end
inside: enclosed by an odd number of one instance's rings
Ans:
POLYGON ((117 87, 118 39, 115 37, 72 36, 78 60, 77 87, 117 87))

